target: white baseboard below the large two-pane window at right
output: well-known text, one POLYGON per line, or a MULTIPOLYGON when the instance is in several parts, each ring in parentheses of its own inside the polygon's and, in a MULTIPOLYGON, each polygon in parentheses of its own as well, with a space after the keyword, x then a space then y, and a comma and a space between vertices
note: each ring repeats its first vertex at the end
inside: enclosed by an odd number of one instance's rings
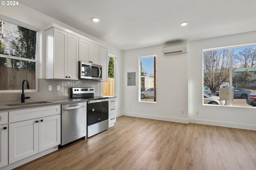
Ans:
POLYGON ((212 126, 221 126, 221 127, 231 127, 236 129, 246 129, 256 131, 256 125, 246 125, 241 123, 230 123, 230 122, 221 122, 221 121, 209 121, 201 119, 189 119, 189 123, 196 123, 202 125, 212 125, 212 126))

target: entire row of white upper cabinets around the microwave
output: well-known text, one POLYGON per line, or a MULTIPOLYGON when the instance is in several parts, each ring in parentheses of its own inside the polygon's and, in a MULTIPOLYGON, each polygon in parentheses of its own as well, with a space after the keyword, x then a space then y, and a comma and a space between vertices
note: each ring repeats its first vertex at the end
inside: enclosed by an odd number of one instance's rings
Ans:
POLYGON ((46 79, 78 80, 79 61, 84 61, 101 65, 102 81, 108 81, 108 49, 55 23, 45 34, 46 79))

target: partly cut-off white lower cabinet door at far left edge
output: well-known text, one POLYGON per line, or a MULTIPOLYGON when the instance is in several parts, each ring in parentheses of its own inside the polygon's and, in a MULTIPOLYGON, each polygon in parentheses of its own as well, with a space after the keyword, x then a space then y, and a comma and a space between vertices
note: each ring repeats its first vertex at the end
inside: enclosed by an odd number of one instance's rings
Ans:
POLYGON ((8 164, 8 124, 0 125, 0 168, 3 166, 6 166, 7 164, 8 164))

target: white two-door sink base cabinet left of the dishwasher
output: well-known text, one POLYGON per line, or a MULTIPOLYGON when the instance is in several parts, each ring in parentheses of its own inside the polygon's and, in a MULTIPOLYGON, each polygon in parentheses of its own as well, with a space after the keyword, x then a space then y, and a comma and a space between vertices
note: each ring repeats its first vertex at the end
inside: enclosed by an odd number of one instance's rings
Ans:
POLYGON ((9 164, 60 144, 60 105, 9 111, 9 164))

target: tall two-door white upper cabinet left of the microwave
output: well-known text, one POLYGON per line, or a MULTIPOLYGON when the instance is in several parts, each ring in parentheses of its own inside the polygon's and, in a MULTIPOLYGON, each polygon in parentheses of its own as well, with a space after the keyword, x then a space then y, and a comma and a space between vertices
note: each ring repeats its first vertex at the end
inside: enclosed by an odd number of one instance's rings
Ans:
POLYGON ((52 27, 46 33, 46 79, 78 80, 78 37, 52 27))

